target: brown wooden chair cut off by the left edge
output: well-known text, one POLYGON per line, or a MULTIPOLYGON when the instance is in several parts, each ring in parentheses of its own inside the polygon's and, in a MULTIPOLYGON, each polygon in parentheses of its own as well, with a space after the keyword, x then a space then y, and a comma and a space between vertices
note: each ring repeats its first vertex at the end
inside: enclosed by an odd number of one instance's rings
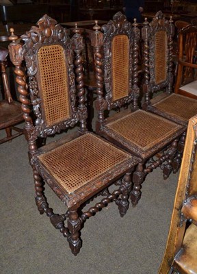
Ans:
POLYGON ((8 49, 0 47, 0 70, 2 76, 1 86, 3 91, 3 99, 0 101, 0 129, 5 129, 6 136, 1 138, 0 144, 23 134, 23 129, 16 125, 23 121, 23 112, 21 103, 14 101, 10 92, 8 75, 6 74, 6 58, 8 49), (14 134, 12 134, 12 130, 14 134))

